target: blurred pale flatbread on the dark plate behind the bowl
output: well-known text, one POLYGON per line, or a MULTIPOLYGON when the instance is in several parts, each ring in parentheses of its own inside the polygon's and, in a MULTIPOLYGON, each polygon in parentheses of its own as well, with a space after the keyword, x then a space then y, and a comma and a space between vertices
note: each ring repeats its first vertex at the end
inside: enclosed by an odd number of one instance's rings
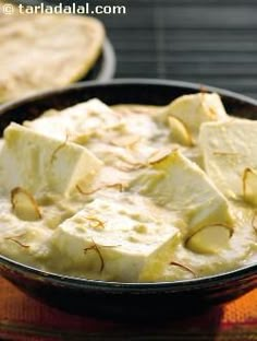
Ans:
POLYGON ((94 17, 0 12, 0 103, 82 79, 103 39, 94 17))

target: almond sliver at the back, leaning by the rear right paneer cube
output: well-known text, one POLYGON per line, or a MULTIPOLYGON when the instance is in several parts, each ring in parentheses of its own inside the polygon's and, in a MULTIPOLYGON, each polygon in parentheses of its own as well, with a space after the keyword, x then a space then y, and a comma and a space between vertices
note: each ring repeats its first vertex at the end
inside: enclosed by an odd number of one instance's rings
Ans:
POLYGON ((186 126, 180 119, 173 116, 169 116, 168 120, 172 140, 182 145, 193 145, 192 136, 186 126))

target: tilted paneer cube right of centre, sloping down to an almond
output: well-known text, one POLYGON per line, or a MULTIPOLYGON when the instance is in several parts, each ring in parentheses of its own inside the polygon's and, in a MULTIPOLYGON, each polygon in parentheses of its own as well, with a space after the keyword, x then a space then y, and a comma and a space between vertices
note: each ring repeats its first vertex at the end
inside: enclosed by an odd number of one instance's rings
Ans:
POLYGON ((170 211, 181 212, 187 235, 213 224, 232 226, 227 199, 208 176, 179 151, 152 164, 131 187, 170 211))

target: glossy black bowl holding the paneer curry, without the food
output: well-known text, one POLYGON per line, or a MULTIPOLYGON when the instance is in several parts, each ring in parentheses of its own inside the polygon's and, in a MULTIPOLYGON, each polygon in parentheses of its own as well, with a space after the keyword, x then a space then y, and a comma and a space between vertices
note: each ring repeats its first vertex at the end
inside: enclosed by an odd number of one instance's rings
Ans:
MULTIPOLYGON (((0 129, 12 120, 22 122, 38 117, 46 109, 65 108, 91 97, 98 97, 109 105, 164 105, 172 98, 200 89, 198 84, 154 80, 75 84, 1 106, 0 129)), ((205 89, 218 92, 231 115, 257 118, 257 101, 220 89, 205 89)), ((113 283, 48 273, 0 256, 0 274, 48 305, 70 313, 117 320, 193 315, 257 286, 256 263, 218 275, 171 283, 113 283)))

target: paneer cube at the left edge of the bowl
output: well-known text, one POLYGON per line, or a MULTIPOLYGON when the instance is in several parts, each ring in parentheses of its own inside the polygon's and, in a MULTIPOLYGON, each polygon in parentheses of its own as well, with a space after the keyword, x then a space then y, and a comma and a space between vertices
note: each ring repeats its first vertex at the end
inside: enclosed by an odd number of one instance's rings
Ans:
POLYGON ((85 148, 11 124, 0 153, 0 183, 7 191, 22 187, 69 196, 81 181, 90 181, 102 163, 85 148))

